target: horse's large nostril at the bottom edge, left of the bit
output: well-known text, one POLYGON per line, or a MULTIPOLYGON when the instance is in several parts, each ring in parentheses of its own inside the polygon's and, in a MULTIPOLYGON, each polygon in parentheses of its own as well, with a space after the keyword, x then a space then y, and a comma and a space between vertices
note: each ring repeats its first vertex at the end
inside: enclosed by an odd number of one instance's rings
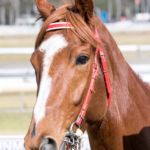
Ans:
POLYGON ((57 145, 54 139, 44 138, 39 150, 57 150, 57 145))

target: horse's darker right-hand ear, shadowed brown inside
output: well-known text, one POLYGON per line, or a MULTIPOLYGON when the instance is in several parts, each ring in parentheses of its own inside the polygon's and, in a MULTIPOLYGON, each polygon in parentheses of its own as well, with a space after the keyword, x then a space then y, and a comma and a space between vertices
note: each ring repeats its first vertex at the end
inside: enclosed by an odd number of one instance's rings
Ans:
POLYGON ((93 16, 93 0, 75 0, 75 9, 88 22, 93 16))

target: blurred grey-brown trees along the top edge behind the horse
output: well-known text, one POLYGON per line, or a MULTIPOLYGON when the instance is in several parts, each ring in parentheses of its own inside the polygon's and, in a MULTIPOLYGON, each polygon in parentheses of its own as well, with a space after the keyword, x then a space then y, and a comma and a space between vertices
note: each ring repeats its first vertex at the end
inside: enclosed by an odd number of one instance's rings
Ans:
MULTIPOLYGON (((74 0, 48 0, 49 2, 59 5, 64 1, 74 0)), ((149 12, 150 0, 94 0, 97 12, 100 10, 108 12, 108 20, 119 20, 122 16, 132 18, 135 13, 149 12)), ((0 0, 0 24, 14 24, 16 18, 25 14, 28 16, 35 13, 34 0, 0 0)))

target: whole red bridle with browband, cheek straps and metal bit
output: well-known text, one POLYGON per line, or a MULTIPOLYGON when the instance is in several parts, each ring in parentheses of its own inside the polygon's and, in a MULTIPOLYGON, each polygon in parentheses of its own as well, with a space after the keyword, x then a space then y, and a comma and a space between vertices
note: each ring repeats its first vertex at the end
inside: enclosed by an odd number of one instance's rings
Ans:
MULTIPOLYGON (((56 22, 56 23, 49 24, 46 31, 48 32, 48 31, 60 30, 60 29, 74 29, 74 27, 69 22, 56 22)), ((97 40, 99 40, 99 34, 98 34, 97 29, 95 30, 95 37, 97 38, 97 40)), ((67 150, 69 150, 69 149, 79 150, 80 149, 81 130, 79 130, 79 129, 80 129, 80 127, 81 127, 81 125, 85 119, 86 112, 87 112, 89 103, 91 101, 91 96, 94 93, 94 86, 95 86, 96 78, 100 74, 100 67, 99 67, 98 58, 100 58, 99 61, 101 63, 101 68, 102 68, 105 86, 106 86, 106 91, 107 91, 107 105, 108 105, 107 107, 108 107, 108 109, 110 108, 112 88, 111 88, 111 83, 110 83, 110 79, 109 79, 109 75, 108 75, 108 68, 107 68, 107 64, 106 64, 106 58, 104 55, 104 50, 103 50, 103 48, 101 48, 98 45, 96 48, 96 51, 95 51, 95 58, 94 58, 94 63, 93 63, 93 67, 92 67, 92 78, 90 81, 90 85, 89 85, 87 94, 82 101, 83 104, 82 104, 82 107, 81 107, 81 110, 79 112, 77 119, 75 120, 75 122, 72 123, 72 125, 71 125, 69 131, 67 132, 65 139, 64 139, 64 143, 65 143, 64 147, 67 150), (76 131, 74 131, 74 126, 77 127, 76 131)))

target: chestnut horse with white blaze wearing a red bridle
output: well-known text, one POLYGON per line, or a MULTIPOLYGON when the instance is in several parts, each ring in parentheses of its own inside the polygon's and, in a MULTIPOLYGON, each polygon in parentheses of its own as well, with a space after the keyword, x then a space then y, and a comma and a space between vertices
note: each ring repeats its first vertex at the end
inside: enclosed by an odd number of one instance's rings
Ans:
POLYGON ((31 63, 37 101, 26 150, 150 150, 150 86, 94 15, 92 0, 59 8, 36 0, 43 25, 31 63))

